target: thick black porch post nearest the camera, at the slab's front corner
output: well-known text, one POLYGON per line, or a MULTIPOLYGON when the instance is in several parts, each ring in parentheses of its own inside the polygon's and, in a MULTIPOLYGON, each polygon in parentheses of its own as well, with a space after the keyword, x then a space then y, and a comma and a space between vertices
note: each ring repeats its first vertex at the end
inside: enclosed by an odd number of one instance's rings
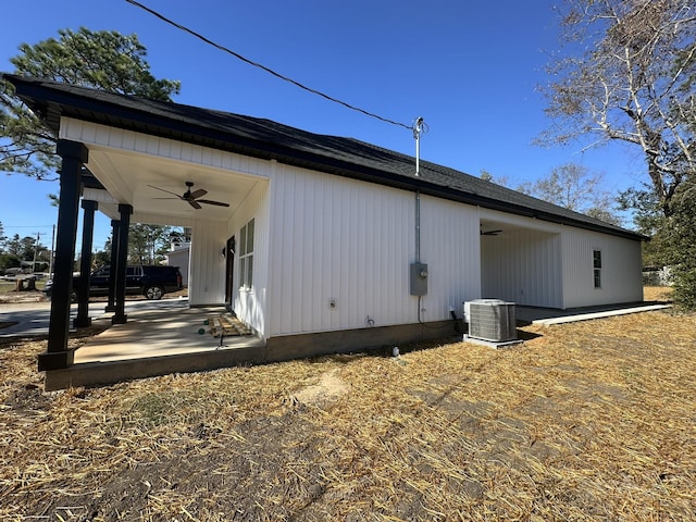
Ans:
POLYGON ((87 148, 78 141, 59 139, 55 148, 62 158, 60 196, 58 207, 58 234, 55 238, 55 264, 51 290, 48 348, 39 355, 39 371, 59 370, 73 363, 74 351, 67 349, 70 328, 70 294, 73 286, 73 260, 77 237, 80 170, 87 163, 87 148))

